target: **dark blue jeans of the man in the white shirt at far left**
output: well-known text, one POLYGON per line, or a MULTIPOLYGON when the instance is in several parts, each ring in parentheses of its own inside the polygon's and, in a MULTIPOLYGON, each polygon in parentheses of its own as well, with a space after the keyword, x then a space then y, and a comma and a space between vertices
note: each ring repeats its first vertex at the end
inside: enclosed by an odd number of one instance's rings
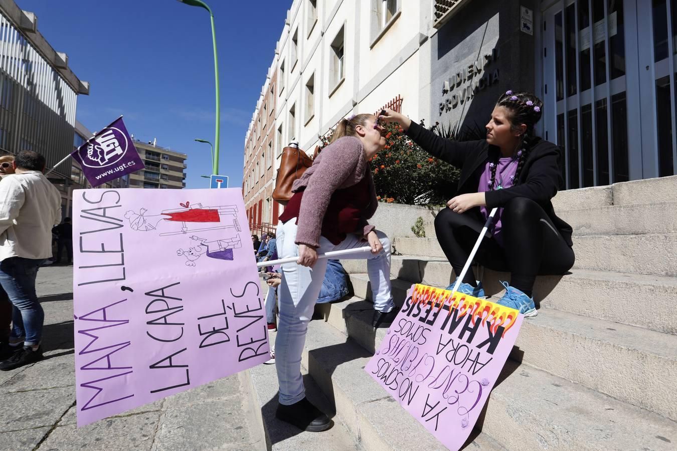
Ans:
POLYGON ((35 278, 43 259, 22 257, 5 258, 0 262, 0 285, 14 304, 11 341, 24 346, 37 346, 42 339, 45 312, 35 294, 35 278))

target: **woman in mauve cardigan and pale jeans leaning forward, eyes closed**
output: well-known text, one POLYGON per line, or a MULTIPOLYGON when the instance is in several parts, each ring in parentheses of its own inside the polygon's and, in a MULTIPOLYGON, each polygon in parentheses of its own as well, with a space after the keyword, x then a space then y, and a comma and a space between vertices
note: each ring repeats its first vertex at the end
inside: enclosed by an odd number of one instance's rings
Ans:
POLYGON ((369 245, 369 252, 348 258, 367 258, 374 300, 374 327, 393 321, 395 311, 390 283, 390 241, 368 224, 378 202, 369 159, 385 146, 383 128, 372 114, 343 119, 332 143, 294 182, 290 199, 278 224, 280 258, 298 257, 282 265, 280 323, 275 341, 280 383, 276 417, 305 431, 324 431, 328 417, 305 398, 301 379, 301 352, 308 322, 313 316, 326 259, 318 254, 369 245))

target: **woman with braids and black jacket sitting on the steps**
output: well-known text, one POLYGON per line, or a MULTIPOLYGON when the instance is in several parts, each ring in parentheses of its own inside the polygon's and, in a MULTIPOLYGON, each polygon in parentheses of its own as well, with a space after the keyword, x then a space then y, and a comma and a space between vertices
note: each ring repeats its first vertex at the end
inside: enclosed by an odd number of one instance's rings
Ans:
MULTIPOLYGON (((536 316, 532 289, 537 275, 561 275, 573 266, 571 226, 554 214, 550 199, 561 181, 559 149, 534 134, 543 104, 533 94, 507 91, 486 125, 487 138, 443 139, 402 114, 386 110, 379 119, 399 122, 432 156, 460 168, 457 195, 435 218, 435 233, 456 275, 479 237, 488 211, 498 207, 475 256, 493 270, 510 272, 499 304, 536 316)), ((453 286, 450 285, 448 289, 453 286)), ((458 291, 484 297, 473 269, 458 291)))

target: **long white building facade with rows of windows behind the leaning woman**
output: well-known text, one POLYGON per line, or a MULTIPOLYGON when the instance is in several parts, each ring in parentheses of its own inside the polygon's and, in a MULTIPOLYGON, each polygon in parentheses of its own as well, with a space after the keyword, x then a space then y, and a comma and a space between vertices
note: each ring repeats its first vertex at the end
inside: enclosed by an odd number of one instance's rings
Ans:
MULTIPOLYGON (((245 139, 243 191, 250 223, 274 225, 282 211, 269 198, 282 149, 295 140, 313 153, 320 136, 346 116, 389 103, 414 120, 429 120, 432 0, 294 0, 275 49, 266 85, 245 139), (256 187, 248 143, 256 134, 262 99, 274 89, 274 158, 265 185, 256 187), (265 194, 265 199, 253 195, 265 194), (260 204, 260 206, 259 206, 260 204), (270 218, 264 221, 263 218, 270 218)), ((270 108, 270 107, 269 107, 270 108)), ((261 159, 261 156, 257 156, 261 159)), ((263 158, 265 160, 265 157, 263 158)))

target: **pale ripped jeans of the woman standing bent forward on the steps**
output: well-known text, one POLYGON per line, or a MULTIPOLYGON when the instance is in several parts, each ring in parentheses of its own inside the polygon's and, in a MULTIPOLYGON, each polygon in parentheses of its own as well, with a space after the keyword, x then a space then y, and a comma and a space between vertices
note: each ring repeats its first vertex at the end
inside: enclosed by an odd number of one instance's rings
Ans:
MULTIPOLYGON (((294 243, 297 233, 297 224, 294 222, 296 222, 295 219, 290 219, 285 224, 278 224, 280 258, 299 255, 299 246, 294 243)), ((367 272, 372 285, 374 309, 390 312, 395 307, 390 282, 390 240, 383 232, 376 231, 376 235, 383 244, 382 252, 376 255, 371 252, 358 252, 342 256, 341 260, 368 259, 367 272)), ((318 254, 355 249, 366 245, 368 243, 360 241, 359 237, 354 234, 349 234, 338 245, 333 245, 325 237, 320 237, 318 254)), ((318 260, 312 268, 295 262, 282 265, 282 285, 278 287, 280 319, 278 336, 275 340, 275 366, 278 371, 278 383, 280 383, 280 404, 294 404, 305 397, 305 387, 303 387, 301 378, 301 354, 308 322, 313 316, 315 301, 320 295, 326 268, 325 258, 318 260)))

